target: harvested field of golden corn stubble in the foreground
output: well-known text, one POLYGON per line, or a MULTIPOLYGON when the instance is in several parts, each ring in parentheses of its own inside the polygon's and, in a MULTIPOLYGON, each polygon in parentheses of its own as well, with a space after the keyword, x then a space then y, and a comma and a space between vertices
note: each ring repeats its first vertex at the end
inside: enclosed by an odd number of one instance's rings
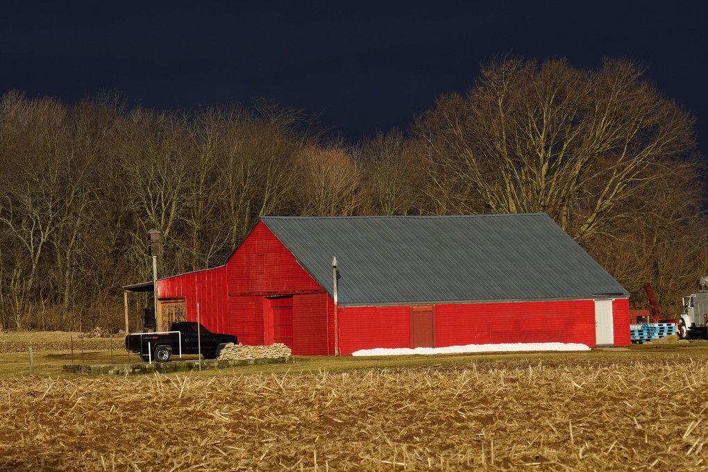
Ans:
MULTIPOLYGON (((626 360, 625 360, 626 359, 626 360)), ((704 470, 708 362, 0 379, 0 469, 704 470)))

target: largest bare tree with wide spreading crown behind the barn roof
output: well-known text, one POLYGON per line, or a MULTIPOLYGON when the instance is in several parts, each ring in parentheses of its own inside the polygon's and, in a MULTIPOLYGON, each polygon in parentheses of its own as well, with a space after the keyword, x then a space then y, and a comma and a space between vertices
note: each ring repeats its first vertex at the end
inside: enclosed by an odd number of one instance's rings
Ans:
POLYGON ((467 212, 547 212, 581 243, 631 219, 624 204, 695 149, 690 115, 642 72, 622 60, 484 67, 467 97, 442 96, 416 122, 440 194, 467 212))

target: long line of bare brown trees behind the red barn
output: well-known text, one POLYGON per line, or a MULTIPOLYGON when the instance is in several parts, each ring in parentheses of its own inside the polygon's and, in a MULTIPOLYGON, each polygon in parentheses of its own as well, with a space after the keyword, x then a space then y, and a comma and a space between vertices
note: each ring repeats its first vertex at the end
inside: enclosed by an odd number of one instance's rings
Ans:
POLYGON ((327 138, 269 103, 173 112, 0 99, 0 325, 122 325, 123 284, 220 265, 261 215, 547 212, 665 311, 707 275, 692 117, 628 61, 505 59, 405 131, 327 138))

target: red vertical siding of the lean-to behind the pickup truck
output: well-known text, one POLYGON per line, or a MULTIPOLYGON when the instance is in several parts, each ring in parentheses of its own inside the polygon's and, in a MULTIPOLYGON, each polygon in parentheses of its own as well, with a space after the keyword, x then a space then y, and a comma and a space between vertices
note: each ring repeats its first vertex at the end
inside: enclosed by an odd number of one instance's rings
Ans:
POLYGON ((189 272, 157 281, 158 299, 184 299, 187 320, 197 321, 199 303, 200 321, 215 333, 227 329, 228 299, 226 267, 189 272))

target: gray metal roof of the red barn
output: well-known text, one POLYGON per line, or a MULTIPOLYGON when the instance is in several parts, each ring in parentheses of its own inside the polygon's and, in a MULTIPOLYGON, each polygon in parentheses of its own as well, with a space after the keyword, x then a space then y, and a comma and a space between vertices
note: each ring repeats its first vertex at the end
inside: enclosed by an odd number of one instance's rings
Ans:
POLYGON ((629 296, 543 213, 262 221, 340 304, 629 296))

